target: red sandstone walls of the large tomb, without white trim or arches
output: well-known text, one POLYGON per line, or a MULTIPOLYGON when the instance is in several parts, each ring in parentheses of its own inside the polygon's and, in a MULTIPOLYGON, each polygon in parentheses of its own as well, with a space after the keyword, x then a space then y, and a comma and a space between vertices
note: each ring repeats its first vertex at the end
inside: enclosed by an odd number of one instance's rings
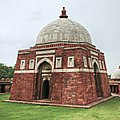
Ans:
MULTIPOLYGON (((66 45, 64 47, 70 47, 72 45, 66 45)), ((75 45, 73 45, 75 46, 75 45)), ((67 60, 69 56, 74 56, 74 68, 84 68, 83 55, 90 57, 90 50, 77 48, 77 49, 64 49, 56 48, 55 57, 62 57, 62 67, 67 67, 67 60)), ((47 47, 46 47, 47 48, 47 47)), ((93 49, 93 48, 92 48, 93 49)), ((95 49, 96 50, 96 49, 95 49)), ((43 50, 42 50, 43 51, 43 50)), ((104 54, 99 52, 98 59, 104 60, 104 54)), ((36 58, 36 51, 30 51, 29 54, 18 55, 15 70, 20 70, 20 61, 26 60, 25 70, 29 70, 29 60, 36 58)), ((93 55, 94 56, 94 55, 93 55)), ((96 56, 94 56, 96 57, 96 56)), ((39 58, 38 61, 42 59, 39 58)), ((49 57, 52 61, 52 57, 49 57)), ((96 59, 97 60, 97 59, 96 59)), ((54 63, 55 64, 55 63, 54 63)), ((88 62, 87 62, 88 64, 88 62)), ((55 66, 54 66, 55 67, 55 66)), ((89 64, 87 69, 89 69, 89 64)), ((105 69, 106 70, 106 69, 105 69)), ((102 89, 104 97, 110 95, 109 83, 107 74, 101 74, 102 89)), ((35 99, 35 74, 34 73, 15 73, 13 79, 13 85, 11 89, 10 99, 14 100, 34 100, 35 99)), ((54 72, 50 82, 50 100, 53 103, 62 104, 81 104, 85 105, 93 101, 97 101, 94 73, 92 72, 54 72)))

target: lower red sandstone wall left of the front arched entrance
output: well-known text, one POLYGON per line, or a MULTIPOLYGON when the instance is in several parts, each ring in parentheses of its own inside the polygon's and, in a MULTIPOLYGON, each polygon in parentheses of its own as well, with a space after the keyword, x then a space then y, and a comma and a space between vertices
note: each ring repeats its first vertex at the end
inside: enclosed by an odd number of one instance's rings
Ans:
POLYGON ((14 74, 10 99, 33 100, 34 74, 14 74))

